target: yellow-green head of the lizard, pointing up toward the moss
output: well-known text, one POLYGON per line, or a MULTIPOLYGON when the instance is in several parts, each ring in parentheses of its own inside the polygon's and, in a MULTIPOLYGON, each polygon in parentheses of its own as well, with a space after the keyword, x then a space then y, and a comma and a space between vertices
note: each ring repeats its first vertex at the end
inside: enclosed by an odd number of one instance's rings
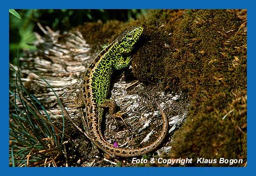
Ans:
POLYGON ((115 41, 118 51, 121 54, 130 53, 134 44, 139 40, 142 31, 142 26, 132 26, 124 30, 115 41))

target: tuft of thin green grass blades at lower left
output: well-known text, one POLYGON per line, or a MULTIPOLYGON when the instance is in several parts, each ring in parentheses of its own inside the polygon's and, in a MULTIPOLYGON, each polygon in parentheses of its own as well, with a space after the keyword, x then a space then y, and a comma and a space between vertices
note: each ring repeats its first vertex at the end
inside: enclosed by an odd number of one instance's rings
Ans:
POLYGON ((40 165, 45 158, 62 154, 64 134, 52 123, 42 103, 26 90, 19 66, 13 71, 15 77, 9 88, 10 166, 40 165))

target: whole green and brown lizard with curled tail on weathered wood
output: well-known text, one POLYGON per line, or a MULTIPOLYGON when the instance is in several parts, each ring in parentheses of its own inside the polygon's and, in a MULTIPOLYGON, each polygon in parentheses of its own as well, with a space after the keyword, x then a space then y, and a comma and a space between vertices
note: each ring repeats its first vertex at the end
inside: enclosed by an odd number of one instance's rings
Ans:
POLYGON ((87 68, 83 78, 82 94, 77 94, 75 100, 77 108, 85 107, 86 109, 85 123, 94 145, 113 157, 132 157, 146 154, 156 149, 167 134, 168 119, 158 104, 163 118, 163 130, 157 140, 149 146, 138 149, 116 148, 106 141, 101 131, 103 108, 108 107, 109 114, 115 113, 116 102, 107 99, 113 71, 129 66, 130 53, 142 31, 142 26, 129 27, 114 42, 103 47, 103 50, 87 68))

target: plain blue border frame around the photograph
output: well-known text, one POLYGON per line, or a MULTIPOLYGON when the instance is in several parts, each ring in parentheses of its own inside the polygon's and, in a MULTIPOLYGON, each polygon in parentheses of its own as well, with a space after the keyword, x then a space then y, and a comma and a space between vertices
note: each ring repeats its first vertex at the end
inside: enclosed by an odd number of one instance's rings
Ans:
MULTIPOLYGON (((2 172, 7 171, 8 174, 26 174, 26 175, 46 175, 46 174, 58 174, 58 175, 131 175, 131 174, 221 174, 221 175, 242 175, 248 174, 250 171, 254 171, 255 165, 255 147, 253 139, 255 139, 255 117, 253 116, 255 108, 255 92, 254 92, 254 74, 255 74, 255 61, 253 59, 253 50, 255 47, 255 12, 253 3, 250 1, 77 1, 73 0, 71 3, 63 1, 17 1, 12 0, 5 2, 2 5, 0 11, 3 24, 1 30, 1 112, 2 112, 2 127, 0 128, 1 139, 1 156, 0 159, 2 172), (68 167, 68 168, 43 168, 43 167, 9 167, 9 9, 247 9, 247 167, 68 167), (8 35, 7 35, 8 34, 8 35), (8 59, 7 59, 8 58, 8 59), (49 171, 49 173, 46 173, 49 171)), ((255 58, 256 59, 256 58, 255 58)), ((254 171, 255 173, 255 171, 254 171)))

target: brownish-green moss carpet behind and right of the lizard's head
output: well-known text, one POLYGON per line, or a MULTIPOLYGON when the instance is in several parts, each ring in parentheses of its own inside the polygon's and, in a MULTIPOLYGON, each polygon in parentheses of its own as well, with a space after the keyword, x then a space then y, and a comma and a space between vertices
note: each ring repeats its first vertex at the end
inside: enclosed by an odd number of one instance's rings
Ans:
POLYGON ((167 158, 242 158, 245 163, 246 13, 154 10, 126 25, 110 21, 78 28, 98 47, 127 26, 144 27, 132 59, 134 76, 143 83, 161 83, 165 91, 187 93, 191 102, 187 122, 175 132, 167 158))

